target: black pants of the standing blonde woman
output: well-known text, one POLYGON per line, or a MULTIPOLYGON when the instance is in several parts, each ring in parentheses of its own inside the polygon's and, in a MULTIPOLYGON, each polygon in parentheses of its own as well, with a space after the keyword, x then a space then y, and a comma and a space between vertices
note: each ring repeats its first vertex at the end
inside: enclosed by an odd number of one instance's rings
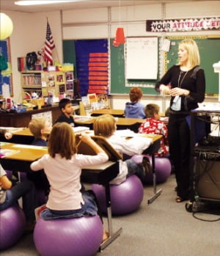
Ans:
POLYGON ((169 154, 175 167, 177 196, 188 199, 190 190, 190 130, 184 114, 170 114, 169 154))

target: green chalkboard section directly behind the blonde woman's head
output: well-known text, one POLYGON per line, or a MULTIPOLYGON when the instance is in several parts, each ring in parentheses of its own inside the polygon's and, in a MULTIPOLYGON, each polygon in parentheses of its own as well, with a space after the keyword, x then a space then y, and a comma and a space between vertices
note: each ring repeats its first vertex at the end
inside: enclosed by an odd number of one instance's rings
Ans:
POLYGON ((165 67, 167 70, 178 62, 178 43, 186 38, 197 42, 200 54, 200 67, 205 70, 206 89, 209 95, 219 94, 219 73, 214 73, 213 64, 220 60, 220 38, 208 36, 167 37, 171 40, 170 50, 165 54, 165 67))

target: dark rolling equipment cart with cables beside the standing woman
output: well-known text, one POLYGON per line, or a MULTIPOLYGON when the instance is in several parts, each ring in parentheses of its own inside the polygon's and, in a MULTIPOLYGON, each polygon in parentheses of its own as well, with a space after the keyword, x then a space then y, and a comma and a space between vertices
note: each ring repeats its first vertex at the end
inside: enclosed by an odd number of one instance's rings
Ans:
POLYGON ((220 109, 191 111, 191 202, 200 200, 220 202, 220 137, 208 138, 208 145, 194 147, 195 117, 206 117, 205 122, 219 125, 220 109), (210 118, 218 117, 215 122, 210 118))

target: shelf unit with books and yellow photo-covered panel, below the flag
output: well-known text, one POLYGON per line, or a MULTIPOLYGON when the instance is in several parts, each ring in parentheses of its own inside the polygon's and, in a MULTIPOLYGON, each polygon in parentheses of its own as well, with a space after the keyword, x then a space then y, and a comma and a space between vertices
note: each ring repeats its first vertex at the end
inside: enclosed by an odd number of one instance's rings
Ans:
POLYGON ((23 71, 21 87, 23 94, 36 92, 43 97, 49 94, 59 97, 65 93, 73 96, 73 71, 23 71))

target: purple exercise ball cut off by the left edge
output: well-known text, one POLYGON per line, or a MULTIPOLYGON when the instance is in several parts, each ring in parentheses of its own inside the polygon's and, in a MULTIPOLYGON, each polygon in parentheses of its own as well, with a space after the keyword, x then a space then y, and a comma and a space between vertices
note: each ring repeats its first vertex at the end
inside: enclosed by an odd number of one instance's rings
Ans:
POLYGON ((0 211, 0 250, 13 246, 19 240, 25 225, 25 215, 18 205, 0 211))

